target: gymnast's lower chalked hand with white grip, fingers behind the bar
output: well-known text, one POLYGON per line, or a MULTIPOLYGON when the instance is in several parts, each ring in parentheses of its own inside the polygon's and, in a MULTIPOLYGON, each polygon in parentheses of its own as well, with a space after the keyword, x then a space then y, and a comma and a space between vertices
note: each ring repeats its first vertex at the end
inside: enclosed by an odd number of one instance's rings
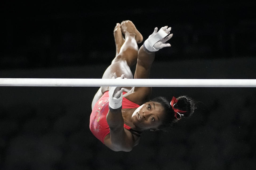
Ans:
MULTIPOLYGON (((124 74, 117 77, 116 73, 113 74, 112 79, 124 79, 124 74)), ((123 101, 123 88, 122 87, 109 87, 109 108, 122 109, 123 101)))

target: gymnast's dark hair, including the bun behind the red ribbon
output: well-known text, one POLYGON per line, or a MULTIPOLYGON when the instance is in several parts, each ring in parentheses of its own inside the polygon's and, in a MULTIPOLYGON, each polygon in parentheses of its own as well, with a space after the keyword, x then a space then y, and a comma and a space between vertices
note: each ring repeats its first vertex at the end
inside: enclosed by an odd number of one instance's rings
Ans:
MULTIPOLYGON (((179 96, 177 98, 177 103, 174 105, 175 109, 179 109, 182 111, 187 111, 185 113, 182 113, 184 116, 183 117, 190 117, 194 110, 196 109, 195 107, 195 102, 193 101, 193 99, 191 99, 188 96, 179 96)), ((160 103, 164 109, 165 109, 165 118, 163 120, 162 125, 160 125, 158 128, 160 130, 168 130, 171 126, 173 126, 173 124, 175 122, 177 122, 178 120, 174 117, 174 111, 173 108, 171 107, 170 102, 168 101, 168 99, 166 97, 155 97, 154 99, 152 99, 151 101, 155 101, 160 103)), ((181 118, 181 119, 182 119, 181 118)))

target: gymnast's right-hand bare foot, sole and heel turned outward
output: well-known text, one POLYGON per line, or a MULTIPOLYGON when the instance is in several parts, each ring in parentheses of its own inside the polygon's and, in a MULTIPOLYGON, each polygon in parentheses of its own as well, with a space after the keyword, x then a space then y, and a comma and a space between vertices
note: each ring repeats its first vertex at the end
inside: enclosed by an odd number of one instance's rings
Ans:
POLYGON ((124 35, 126 35, 127 33, 135 34, 135 39, 137 43, 141 43, 143 41, 143 36, 141 35, 141 33, 139 33, 133 22, 131 22, 130 20, 121 22, 121 31, 124 35))

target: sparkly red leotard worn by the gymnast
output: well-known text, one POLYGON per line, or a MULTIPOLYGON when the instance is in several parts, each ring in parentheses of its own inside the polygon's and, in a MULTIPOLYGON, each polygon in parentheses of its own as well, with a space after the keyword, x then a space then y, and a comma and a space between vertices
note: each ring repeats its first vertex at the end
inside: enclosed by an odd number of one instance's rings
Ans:
MULTIPOLYGON (((125 94, 126 92, 123 92, 125 94)), ((139 105, 123 97, 122 109, 138 108, 139 105)), ((106 116, 109 111, 109 91, 106 91, 103 96, 94 105, 93 111, 90 116, 90 130, 93 135, 98 138, 102 143, 107 134, 109 134, 109 125, 107 124, 106 116)), ((124 128, 131 131, 132 134, 140 136, 141 132, 131 129, 126 124, 124 128)))

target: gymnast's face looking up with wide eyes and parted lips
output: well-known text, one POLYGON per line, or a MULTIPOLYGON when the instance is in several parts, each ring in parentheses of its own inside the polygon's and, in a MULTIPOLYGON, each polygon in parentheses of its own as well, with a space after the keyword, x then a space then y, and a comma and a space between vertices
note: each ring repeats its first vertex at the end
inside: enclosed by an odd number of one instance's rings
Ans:
POLYGON ((164 108, 160 103, 149 101, 133 112, 131 120, 139 130, 158 130, 163 122, 164 114, 164 108))

